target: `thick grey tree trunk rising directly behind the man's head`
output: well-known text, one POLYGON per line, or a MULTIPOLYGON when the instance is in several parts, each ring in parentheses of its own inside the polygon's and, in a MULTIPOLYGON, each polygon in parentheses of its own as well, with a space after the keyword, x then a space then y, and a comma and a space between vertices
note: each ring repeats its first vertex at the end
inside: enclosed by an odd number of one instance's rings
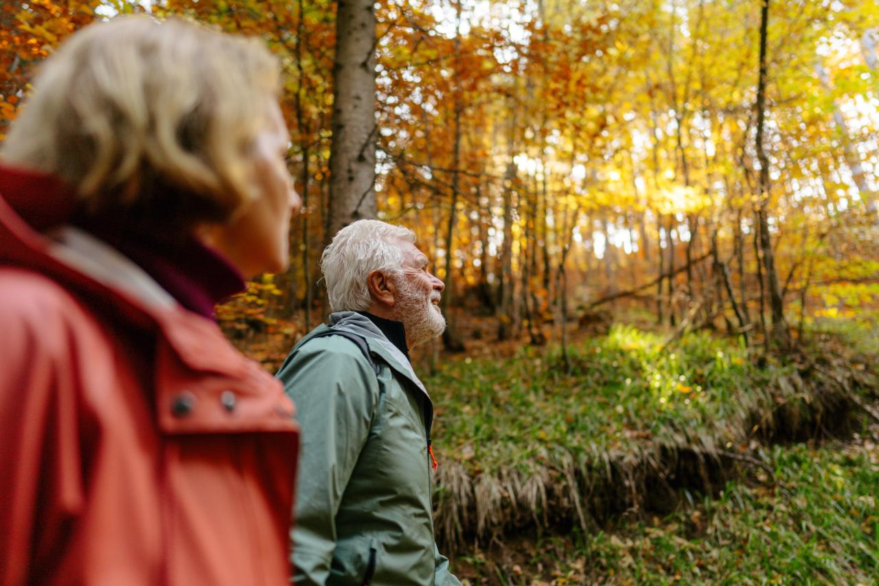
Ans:
POLYGON ((372 0, 339 0, 333 66, 330 209, 325 240, 375 217, 375 12, 372 0))

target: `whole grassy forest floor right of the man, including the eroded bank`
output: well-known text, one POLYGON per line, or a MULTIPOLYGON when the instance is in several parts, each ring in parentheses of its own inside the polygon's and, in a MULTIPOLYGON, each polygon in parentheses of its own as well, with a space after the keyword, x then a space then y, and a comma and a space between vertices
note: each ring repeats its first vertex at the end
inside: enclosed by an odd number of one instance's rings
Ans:
MULTIPOLYGON (((645 323, 575 333, 567 364, 483 339, 425 374, 462 582, 879 584, 875 323, 768 357, 645 323)), ((272 370, 278 340, 241 345, 272 370)))

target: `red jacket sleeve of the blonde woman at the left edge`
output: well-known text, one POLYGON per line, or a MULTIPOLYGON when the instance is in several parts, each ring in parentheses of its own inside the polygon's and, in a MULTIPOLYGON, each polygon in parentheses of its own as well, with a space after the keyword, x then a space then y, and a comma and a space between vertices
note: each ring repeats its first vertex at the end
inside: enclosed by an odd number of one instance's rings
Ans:
POLYGON ((57 554, 84 501, 70 336, 32 300, 0 294, 2 586, 29 583, 31 568, 51 563, 44 554, 57 554))

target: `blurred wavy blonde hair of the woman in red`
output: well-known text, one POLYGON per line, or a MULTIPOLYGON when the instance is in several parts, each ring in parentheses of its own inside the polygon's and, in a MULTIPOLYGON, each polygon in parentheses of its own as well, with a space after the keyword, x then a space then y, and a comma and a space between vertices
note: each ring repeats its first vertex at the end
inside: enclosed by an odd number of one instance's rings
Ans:
POLYGON ((252 197, 249 151, 279 78, 258 40, 113 18, 47 59, 0 152, 76 187, 88 215, 225 221, 252 197))

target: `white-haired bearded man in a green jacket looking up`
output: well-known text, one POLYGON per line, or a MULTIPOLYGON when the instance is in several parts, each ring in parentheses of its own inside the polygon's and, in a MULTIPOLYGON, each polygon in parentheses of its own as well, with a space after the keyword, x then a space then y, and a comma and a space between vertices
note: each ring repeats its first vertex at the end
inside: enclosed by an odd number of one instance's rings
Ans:
POLYGON ((431 506, 433 407, 409 349, 439 336, 444 285, 415 235, 382 221, 339 230, 321 261, 331 326, 278 377, 301 422, 296 584, 460 584, 431 506))

